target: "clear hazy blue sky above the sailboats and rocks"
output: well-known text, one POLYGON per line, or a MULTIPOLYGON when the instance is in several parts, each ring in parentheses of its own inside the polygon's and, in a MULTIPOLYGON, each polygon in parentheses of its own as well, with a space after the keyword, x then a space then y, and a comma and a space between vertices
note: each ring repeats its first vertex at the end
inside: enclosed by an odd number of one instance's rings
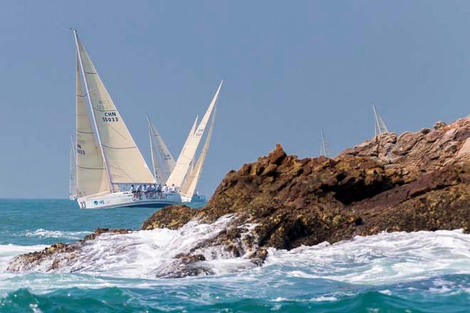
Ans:
POLYGON ((469 115, 470 1, 1 1, 0 197, 68 197, 75 43, 150 164, 148 114, 177 157, 221 79, 199 190, 281 143, 333 156, 469 115))

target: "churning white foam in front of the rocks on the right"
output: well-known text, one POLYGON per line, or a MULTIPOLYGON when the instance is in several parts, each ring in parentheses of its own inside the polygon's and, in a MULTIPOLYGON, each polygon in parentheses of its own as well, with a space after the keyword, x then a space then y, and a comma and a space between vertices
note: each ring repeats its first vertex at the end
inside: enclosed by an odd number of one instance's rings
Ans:
POLYGON ((292 268, 291 277, 382 285, 468 274, 469 247, 470 235, 461 230, 380 233, 291 251, 271 248, 265 266, 292 268))

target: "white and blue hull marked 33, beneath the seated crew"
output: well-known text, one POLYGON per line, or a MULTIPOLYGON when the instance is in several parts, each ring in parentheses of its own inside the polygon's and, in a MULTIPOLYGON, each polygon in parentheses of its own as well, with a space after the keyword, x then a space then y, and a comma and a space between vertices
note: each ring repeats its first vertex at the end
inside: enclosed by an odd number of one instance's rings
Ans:
POLYGON ((110 193, 105 196, 88 196, 86 198, 77 198, 80 208, 120 208, 123 206, 145 206, 151 208, 163 208, 172 204, 181 204, 182 199, 178 193, 163 193, 159 198, 146 198, 142 194, 141 198, 134 199, 130 192, 110 193))

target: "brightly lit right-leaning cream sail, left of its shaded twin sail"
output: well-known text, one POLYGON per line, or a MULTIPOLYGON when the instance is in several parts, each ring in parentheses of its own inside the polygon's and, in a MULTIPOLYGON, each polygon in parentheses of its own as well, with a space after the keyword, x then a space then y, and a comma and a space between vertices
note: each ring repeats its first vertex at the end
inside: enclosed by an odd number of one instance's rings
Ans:
POLYGON ((204 114, 204 117, 202 117, 202 120, 199 123, 199 126, 194 131, 194 133, 189 134, 188 138, 186 139, 183 149, 181 153, 179 154, 177 164, 174 167, 174 171, 172 171, 172 174, 169 176, 167 180, 167 185, 172 186, 174 184, 174 186, 179 186, 179 187, 182 186, 184 178, 187 176, 189 168, 194 159, 194 155, 197 152, 197 147, 199 146, 199 142, 201 142, 202 135, 204 134, 204 129, 206 129, 207 123, 209 122, 209 118, 211 117, 212 110, 214 110, 214 107, 216 105, 217 98, 219 97, 219 92, 222 87, 222 83, 224 83, 223 80, 221 81, 219 87, 217 88, 217 91, 214 97, 212 98, 211 104, 207 108, 207 111, 204 114))

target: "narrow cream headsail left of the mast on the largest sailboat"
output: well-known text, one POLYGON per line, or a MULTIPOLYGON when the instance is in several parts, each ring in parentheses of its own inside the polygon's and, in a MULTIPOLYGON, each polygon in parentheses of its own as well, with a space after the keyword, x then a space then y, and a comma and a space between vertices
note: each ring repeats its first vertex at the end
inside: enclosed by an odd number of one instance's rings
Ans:
POLYGON ((85 107, 85 95, 82 89, 80 71, 76 70, 76 164, 78 198, 98 193, 110 192, 108 175, 105 171, 103 157, 95 142, 95 134, 91 128, 90 118, 85 107))

